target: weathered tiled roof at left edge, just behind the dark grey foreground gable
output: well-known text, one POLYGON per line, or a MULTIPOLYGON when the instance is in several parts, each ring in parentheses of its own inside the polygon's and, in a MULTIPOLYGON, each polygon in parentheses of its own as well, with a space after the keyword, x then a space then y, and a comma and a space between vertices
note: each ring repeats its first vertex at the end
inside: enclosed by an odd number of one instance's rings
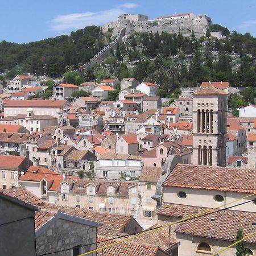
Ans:
POLYGON ((22 200, 27 204, 38 206, 44 203, 43 200, 34 195, 32 192, 28 191, 24 186, 9 189, 0 189, 0 191, 8 196, 12 196, 16 199, 22 200))

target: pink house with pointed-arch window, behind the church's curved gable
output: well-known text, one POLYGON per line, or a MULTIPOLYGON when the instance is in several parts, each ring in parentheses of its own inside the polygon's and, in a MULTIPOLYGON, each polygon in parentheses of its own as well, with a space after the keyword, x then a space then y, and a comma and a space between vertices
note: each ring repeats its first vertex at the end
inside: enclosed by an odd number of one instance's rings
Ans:
POLYGON ((179 141, 169 141, 159 144, 141 155, 144 166, 163 167, 169 155, 181 156, 183 163, 191 164, 191 150, 179 141))

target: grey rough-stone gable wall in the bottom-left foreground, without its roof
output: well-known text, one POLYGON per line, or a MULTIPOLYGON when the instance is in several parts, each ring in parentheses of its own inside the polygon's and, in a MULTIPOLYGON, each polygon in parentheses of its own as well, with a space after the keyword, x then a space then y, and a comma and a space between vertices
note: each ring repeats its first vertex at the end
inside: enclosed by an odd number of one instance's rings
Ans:
MULTIPOLYGON (((44 232, 36 236, 36 253, 44 254, 96 242, 97 228, 77 222, 62 220, 52 223, 44 232)), ((96 244, 82 247, 81 253, 96 249, 96 244)), ((62 251, 58 256, 70 256, 72 250, 62 251)), ((92 254, 96 256, 96 253, 92 254)))

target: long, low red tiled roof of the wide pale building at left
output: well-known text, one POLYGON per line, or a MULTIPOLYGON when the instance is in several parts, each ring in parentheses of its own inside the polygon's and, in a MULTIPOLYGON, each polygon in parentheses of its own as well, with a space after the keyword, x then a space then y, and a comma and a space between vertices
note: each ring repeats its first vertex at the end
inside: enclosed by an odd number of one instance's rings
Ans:
POLYGON ((26 107, 26 108, 34 108, 34 107, 41 107, 41 108, 62 108, 67 101, 65 100, 36 100, 36 101, 15 101, 15 100, 6 100, 5 101, 5 108, 7 107, 26 107))

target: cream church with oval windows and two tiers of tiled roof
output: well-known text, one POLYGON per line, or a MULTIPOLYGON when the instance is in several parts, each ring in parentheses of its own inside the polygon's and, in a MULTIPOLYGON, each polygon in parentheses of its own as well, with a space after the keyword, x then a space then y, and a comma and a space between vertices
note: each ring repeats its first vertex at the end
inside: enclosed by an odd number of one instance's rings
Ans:
MULTIPOLYGON (((253 169, 177 164, 163 183, 163 205, 158 210, 159 223, 180 220, 210 208, 224 209, 225 206, 221 205, 224 202, 229 204, 229 207, 236 205, 232 210, 211 213, 176 225, 176 239, 180 241, 179 252, 182 252, 182 255, 191 255, 191 249, 193 255, 221 250, 229 245, 230 241, 235 240, 238 228, 247 232, 246 227, 251 227, 249 229, 252 230, 248 230, 248 233, 253 232, 251 223, 256 217, 255 204, 251 197, 247 197, 240 200, 240 203, 247 202, 246 204, 237 205, 237 199, 254 193, 254 172, 253 169), (224 230, 230 221, 232 228, 229 229, 227 237, 224 230), (189 235, 185 229, 189 230, 189 235), (211 230, 214 230, 214 234, 208 239, 207 234, 212 232, 211 230)), ((247 246, 255 250, 251 244, 247 246)), ((230 250, 224 255, 233 253, 234 251, 230 250)))

